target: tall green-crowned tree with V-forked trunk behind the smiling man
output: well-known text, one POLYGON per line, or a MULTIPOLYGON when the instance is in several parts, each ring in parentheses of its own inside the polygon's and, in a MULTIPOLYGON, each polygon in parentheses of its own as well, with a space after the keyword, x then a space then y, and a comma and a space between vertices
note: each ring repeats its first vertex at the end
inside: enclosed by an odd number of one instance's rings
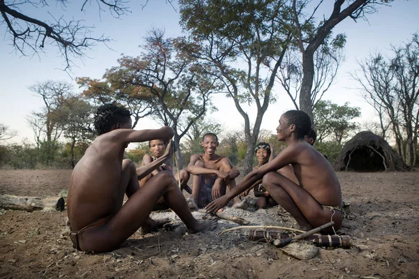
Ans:
POLYGON ((181 20, 190 36, 189 54, 223 84, 244 119, 247 152, 244 174, 252 169, 253 148, 267 107, 274 101, 275 75, 293 30, 286 1, 179 1, 181 20), (247 106, 257 110, 252 123, 247 106), (253 128, 251 128, 253 126, 253 128))

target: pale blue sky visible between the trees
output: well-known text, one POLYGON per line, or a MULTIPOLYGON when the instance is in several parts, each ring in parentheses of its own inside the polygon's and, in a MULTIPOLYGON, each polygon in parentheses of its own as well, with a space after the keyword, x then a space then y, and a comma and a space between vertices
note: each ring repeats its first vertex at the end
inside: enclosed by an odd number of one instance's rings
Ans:
MULTIPOLYGON (((166 29, 166 36, 179 36, 181 29, 179 27, 179 15, 172 7, 165 3, 166 1, 149 1, 147 7, 141 8, 140 3, 145 1, 132 1, 128 3, 132 13, 122 16, 121 19, 115 19, 110 16, 108 10, 99 16, 97 6, 87 7, 85 13, 80 12, 80 4, 71 4, 68 6, 65 15, 73 15, 75 20, 85 20, 87 25, 94 25, 94 34, 112 38, 108 43, 112 50, 105 45, 96 45, 94 50, 88 52, 89 58, 84 61, 75 61, 78 67, 73 68, 71 77, 91 77, 100 79, 105 73, 106 68, 117 66, 117 59, 122 53, 131 56, 140 54, 138 45, 142 44, 142 37, 146 35, 151 27, 166 29)), ((332 8, 332 0, 326 0, 323 6, 330 5, 330 8, 323 9, 323 13, 328 17, 332 8)), ((56 10, 54 7, 52 12, 56 10)), ((354 89, 358 87, 348 73, 352 73, 358 68, 356 59, 365 59, 368 54, 374 50, 386 52, 390 44, 399 44, 406 42, 411 38, 411 34, 419 31, 419 1, 395 1, 391 6, 382 6, 378 13, 368 16, 368 22, 346 19, 335 29, 334 33, 346 33, 346 61, 339 69, 335 84, 329 89, 323 99, 332 100, 333 103, 343 105, 346 101, 351 106, 362 108, 362 119, 370 121, 374 112, 372 108, 365 105, 360 97, 360 93, 354 89)), ((34 17, 43 16, 43 14, 34 8, 26 11, 28 15, 34 17)), ((71 19, 71 17, 67 17, 71 19)), ((33 133, 27 125, 25 117, 32 110, 39 110, 43 105, 41 98, 38 98, 28 87, 36 82, 45 80, 61 80, 75 82, 67 73, 60 70, 63 68, 63 59, 56 50, 48 47, 45 54, 38 56, 21 56, 16 54, 10 47, 10 41, 6 40, 5 26, 0 26, 0 123, 17 130, 18 135, 13 139, 14 142, 20 142, 27 137, 33 142, 33 133)), ((277 86, 275 93, 278 96, 277 104, 270 105, 264 116, 262 128, 271 130, 277 127, 277 121, 281 113, 293 109, 293 105, 286 93, 277 86)), ((80 89, 75 86, 75 91, 80 89)), ((225 124, 227 129, 240 129, 242 127, 242 116, 235 110, 233 100, 226 99, 223 96, 214 98, 214 104, 219 107, 219 112, 212 114, 211 118, 219 123, 225 124), (226 123, 226 119, 230 123, 226 123), (235 121, 231 121, 234 119, 235 121)), ((247 112, 254 119, 255 111, 248 108, 247 112)), ((142 120, 138 128, 155 128, 156 123, 151 120, 142 120)))

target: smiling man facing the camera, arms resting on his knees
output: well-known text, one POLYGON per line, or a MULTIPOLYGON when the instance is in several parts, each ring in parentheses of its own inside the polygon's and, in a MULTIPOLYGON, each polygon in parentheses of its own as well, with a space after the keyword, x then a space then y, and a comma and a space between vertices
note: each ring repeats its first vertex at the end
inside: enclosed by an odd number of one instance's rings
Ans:
MULTIPOLYGON (((201 142, 205 153, 191 156, 188 172, 192 176, 192 199, 195 204, 190 205, 204 208, 213 199, 226 194, 235 188, 235 178, 240 172, 231 165, 230 160, 215 153, 219 146, 218 137, 214 133, 206 133, 201 142)), ((233 199, 235 208, 247 206, 239 197, 233 199)))

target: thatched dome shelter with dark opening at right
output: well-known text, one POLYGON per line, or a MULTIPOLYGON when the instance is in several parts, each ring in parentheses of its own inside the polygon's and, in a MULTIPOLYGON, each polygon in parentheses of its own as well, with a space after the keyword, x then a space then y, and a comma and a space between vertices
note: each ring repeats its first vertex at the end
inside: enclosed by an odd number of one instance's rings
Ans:
POLYGON ((382 137, 363 131, 346 142, 335 162, 336 170, 355 172, 404 171, 409 167, 382 137))

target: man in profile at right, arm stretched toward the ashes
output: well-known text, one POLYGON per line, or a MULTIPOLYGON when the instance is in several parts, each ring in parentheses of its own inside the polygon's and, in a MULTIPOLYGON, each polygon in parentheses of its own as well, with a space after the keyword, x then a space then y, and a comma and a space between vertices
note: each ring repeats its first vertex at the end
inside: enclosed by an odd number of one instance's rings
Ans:
MULTIPOLYGON (((215 213, 226 206, 230 199, 263 179, 263 185, 272 198, 288 211, 303 229, 313 229, 330 220, 332 229, 342 224, 341 187, 329 161, 313 146, 304 141, 309 133, 311 120, 300 110, 290 110, 281 115, 277 139, 286 142, 286 148, 270 162, 253 170, 223 197, 215 199, 205 209, 215 213), (278 169, 291 164, 299 184, 279 174, 278 169)), ((325 229, 325 232, 332 232, 325 229)))

